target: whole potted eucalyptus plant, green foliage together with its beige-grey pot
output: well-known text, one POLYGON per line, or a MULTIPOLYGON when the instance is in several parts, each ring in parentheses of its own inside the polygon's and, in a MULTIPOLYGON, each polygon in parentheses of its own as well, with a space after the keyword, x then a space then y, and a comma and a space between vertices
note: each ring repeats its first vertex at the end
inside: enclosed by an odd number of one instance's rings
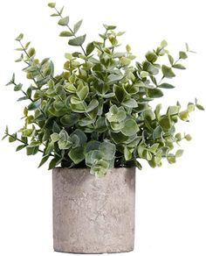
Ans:
POLYGON ((82 20, 72 26, 63 8, 48 5, 62 27, 59 35, 74 51, 65 53, 64 70, 54 75, 52 60, 38 60, 24 35, 17 37, 16 61, 24 62, 31 86, 15 75, 7 85, 23 94, 18 101, 29 103, 23 127, 15 133, 6 128, 3 139, 20 142, 17 151, 25 148, 28 155, 42 153, 39 167, 50 161, 55 251, 132 251, 135 167, 141 169, 141 159, 151 167, 161 167, 162 159, 175 163, 182 149, 174 153, 174 147, 191 139, 176 132, 175 124, 187 122, 195 108, 203 110, 197 101, 186 110, 177 102, 166 112, 161 104, 150 105, 174 88, 168 80, 175 69, 185 69, 182 60, 191 51, 186 44, 174 60, 163 40, 139 62, 129 45, 119 48, 123 32, 114 25, 104 25, 100 39, 85 46, 86 34, 78 34, 82 20))

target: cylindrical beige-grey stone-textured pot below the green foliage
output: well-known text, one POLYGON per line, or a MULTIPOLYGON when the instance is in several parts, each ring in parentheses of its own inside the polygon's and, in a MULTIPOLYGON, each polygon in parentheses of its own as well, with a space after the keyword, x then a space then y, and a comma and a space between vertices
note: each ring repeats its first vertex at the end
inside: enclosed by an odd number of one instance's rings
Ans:
POLYGON ((53 170, 56 252, 134 250, 135 169, 113 168, 98 179, 89 169, 53 170))

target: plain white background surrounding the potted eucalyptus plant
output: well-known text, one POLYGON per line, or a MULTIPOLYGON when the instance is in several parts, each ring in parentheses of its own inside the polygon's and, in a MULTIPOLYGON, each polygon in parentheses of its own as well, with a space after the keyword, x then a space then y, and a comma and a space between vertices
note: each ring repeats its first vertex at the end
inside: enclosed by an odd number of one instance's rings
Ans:
MULTIPOLYGON (((97 39, 102 24, 118 25, 127 31, 123 45, 129 43, 134 54, 143 59, 144 53, 167 39, 171 53, 177 56, 184 43, 197 52, 184 61, 187 70, 177 72, 176 88, 165 90, 162 104, 176 100, 185 106, 195 97, 206 106, 205 96, 205 7, 196 1, 58 1, 65 5, 71 23, 84 18, 81 32, 87 41, 97 39)), ((11 132, 21 127, 24 103, 17 103, 18 93, 3 86, 13 72, 17 82, 30 85, 15 64, 18 53, 14 38, 24 32, 32 41, 39 58, 51 57, 56 72, 61 72, 64 53, 69 51, 66 39, 58 38, 59 27, 50 18, 46 1, 3 1, 0 15, 0 134, 6 124, 11 132)), ((191 114, 189 124, 181 124, 182 131, 193 136, 182 159, 175 165, 166 162, 152 169, 144 163, 137 170, 135 249, 139 256, 205 256, 206 255, 206 114, 191 114)), ((27 157, 16 153, 14 145, 0 142, 0 254, 3 256, 60 255, 52 250, 52 173, 46 166, 37 169, 40 156, 27 157)))

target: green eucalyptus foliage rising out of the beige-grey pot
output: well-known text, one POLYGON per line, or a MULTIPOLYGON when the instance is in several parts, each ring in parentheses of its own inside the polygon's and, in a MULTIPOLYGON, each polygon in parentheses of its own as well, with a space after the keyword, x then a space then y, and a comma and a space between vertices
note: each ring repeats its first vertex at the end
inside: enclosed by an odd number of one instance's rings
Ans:
POLYGON ((188 58, 189 46, 179 52, 177 60, 170 55, 163 40, 145 60, 135 60, 131 47, 119 51, 115 25, 104 25, 100 39, 85 45, 86 34, 78 35, 82 20, 70 25, 63 8, 48 4, 63 29, 60 37, 69 38, 73 46, 65 53, 65 65, 60 75, 54 75, 52 60, 38 60, 30 42, 24 44, 24 35, 17 37, 24 72, 30 86, 25 87, 12 76, 8 83, 23 93, 18 101, 29 101, 24 108, 24 126, 15 133, 8 128, 5 137, 18 141, 17 151, 25 148, 28 155, 42 153, 39 167, 50 159, 49 169, 57 167, 88 167, 91 174, 104 176, 110 167, 138 167, 139 159, 148 160, 151 167, 160 167, 161 159, 175 163, 182 155, 174 145, 189 134, 175 132, 175 124, 188 121, 189 113, 203 106, 188 103, 181 110, 180 103, 161 113, 161 104, 155 109, 150 101, 163 96, 162 90, 173 89, 168 79, 175 77, 175 68, 185 69, 182 60, 188 58), (166 65, 158 61, 168 57, 166 65), (135 60, 135 61, 134 61, 135 60))

